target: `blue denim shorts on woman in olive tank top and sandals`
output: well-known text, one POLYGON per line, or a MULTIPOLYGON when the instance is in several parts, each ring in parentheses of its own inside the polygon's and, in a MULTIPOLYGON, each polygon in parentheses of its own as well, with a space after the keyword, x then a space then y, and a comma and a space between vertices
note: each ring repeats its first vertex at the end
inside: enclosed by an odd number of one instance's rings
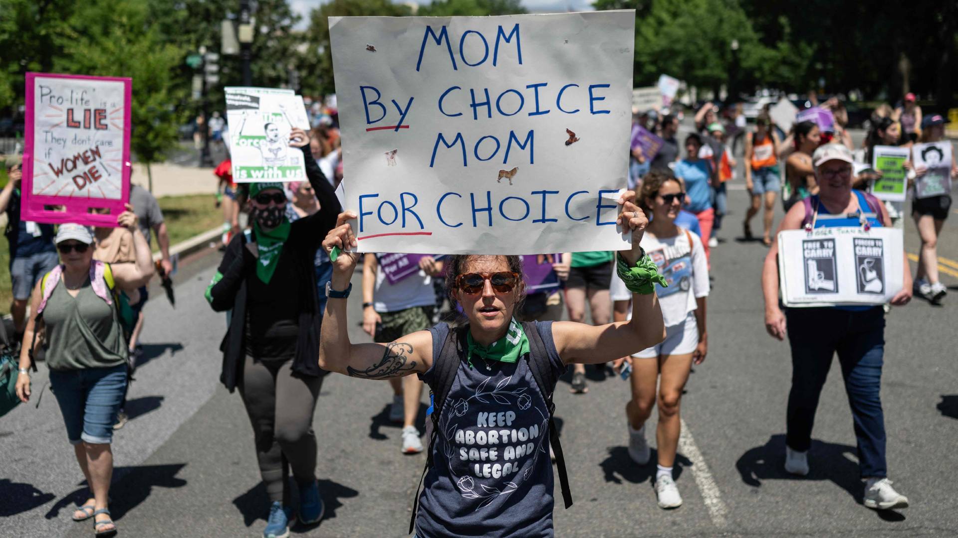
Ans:
POLYGON ((83 370, 50 370, 70 444, 109 444, 126 391, 126 365, 83 370))

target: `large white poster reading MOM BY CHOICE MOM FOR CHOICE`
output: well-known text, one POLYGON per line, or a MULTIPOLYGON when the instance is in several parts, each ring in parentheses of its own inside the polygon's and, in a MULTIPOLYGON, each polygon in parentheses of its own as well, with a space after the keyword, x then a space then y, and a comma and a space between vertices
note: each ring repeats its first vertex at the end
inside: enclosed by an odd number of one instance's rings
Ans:
POLYGON ((331 17, 359 250, 628 248, 634 19, 331 17))

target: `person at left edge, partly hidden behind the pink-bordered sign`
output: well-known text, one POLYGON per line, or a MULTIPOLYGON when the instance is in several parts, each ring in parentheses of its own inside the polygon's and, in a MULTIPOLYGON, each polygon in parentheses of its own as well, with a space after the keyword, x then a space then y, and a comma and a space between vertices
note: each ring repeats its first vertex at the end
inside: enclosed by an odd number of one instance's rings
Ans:
POLYGON ((22 193, 20 181, 23 158, 20 155, 8 155, 7 185, 0 191, 0 212, 7 213, 7 244, 10 246, 10 279, 13 291, 13 303, 10 312, 13 317, 14 341, 23 340, 23 331, 27 323, 27 303, 37 280, 57 266, 57 247, 54 245, 54 227, 52 224, 39 224, 20 219, 22 193))

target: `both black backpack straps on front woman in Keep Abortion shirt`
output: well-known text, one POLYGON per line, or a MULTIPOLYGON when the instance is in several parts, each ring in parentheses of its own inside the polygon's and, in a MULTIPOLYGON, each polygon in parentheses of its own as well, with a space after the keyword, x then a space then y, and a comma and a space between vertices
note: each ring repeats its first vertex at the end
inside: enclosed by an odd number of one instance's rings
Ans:
MULTIPOLYGON (((569 477, 565 472, 565 459, 562 457, 562 445, 559 444, 559 431, 556 429, 556 423, 553 421, 553 413, 556 411, 556 404, 552 401, 553 389, 559 382, 559 376, 556 375, 552 365, 549 364, 549 354, 546 351, 545 343, 542 341, 542 335, 536 329, 535 322, 523 322, 522 330, 529 338, 529 354, 520 357, 529 366, 529 371, 533 374, 539 392, 545 397, 546 407, 549 409, 549 444, 556 455, 556 469, 559 471, 559 487, 562 490, 562 501, 565 507, 572 505, 572 491, 569 489, 569 477)), ((416 486, 416 496, 413 498, 413 515, 409 520, 409 532, 412 533, 416 528, 416 514, 419 508, 419 494, 422 488, 422 479, 426 471, 435 463, 433 461, 433 446, 436 443, 436 437, 440 431, 439 417, 443 414, 445 397, 452 389, 452 382, 456 378, 456 371, 459 370, 460 357, 465 356, 464 349, 466 342, 466 331, 468 325, 458 328, 449 328, 449 333, 445 337, 443 348, 439 356, 432 358, 433 376, 435 379, 435 391, 430 392, 429 401, 432 404, 425 420, 425 437, 429 439, 429 445, 426 450, 425 467, 422 469, 422 477, 416 486)))

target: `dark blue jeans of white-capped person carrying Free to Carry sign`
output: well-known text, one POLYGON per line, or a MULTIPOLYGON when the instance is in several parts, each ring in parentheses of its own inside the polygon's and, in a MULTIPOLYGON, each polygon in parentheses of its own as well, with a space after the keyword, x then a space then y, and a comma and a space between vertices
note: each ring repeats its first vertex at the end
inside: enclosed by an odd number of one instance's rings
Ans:
POLYGON ((789 308, 786 317, 792 365, 786 444, 792 450, 809 450, 818 397, 837 352, 855 420, 861 476, 887 476, 885 419, 878 395, 885 349, 881 307, 789 308))

